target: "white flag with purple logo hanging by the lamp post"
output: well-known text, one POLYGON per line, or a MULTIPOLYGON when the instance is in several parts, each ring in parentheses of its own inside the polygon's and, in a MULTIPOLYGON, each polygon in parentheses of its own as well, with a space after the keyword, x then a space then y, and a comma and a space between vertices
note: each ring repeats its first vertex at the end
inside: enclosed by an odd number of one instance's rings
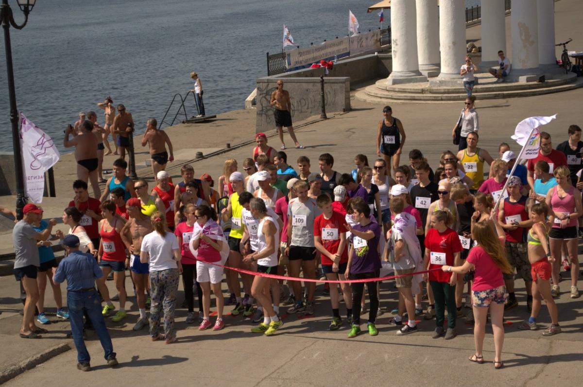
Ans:
POLYGON ((41 131, 20 112, 20 146, 24 192, 34 203, 43 201, 44 173, 59 161, 59 151, 51 136, 41 131))

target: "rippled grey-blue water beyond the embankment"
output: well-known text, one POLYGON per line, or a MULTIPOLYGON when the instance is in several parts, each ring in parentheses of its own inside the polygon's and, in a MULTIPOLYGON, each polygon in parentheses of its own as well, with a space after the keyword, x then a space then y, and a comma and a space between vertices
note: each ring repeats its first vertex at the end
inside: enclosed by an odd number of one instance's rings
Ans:
MULTIPOLYGON (((9 2, 22 22, 16 1, 9 2)), ((468 6, 477 3, 466 0, 468 6)), ((125 104, 136 132, 143 132, 147 118, 161 119, 174 94, 193 87, 191 71, 201 78, 207 114, 241 109, 255 79, 266 76, 266 51, 281 50, 284 23, 297 45, 321 43, 347 34, 349 9, 361 31, 377 29, 378 11, 366 13, 368 5, 358 0, 39 0, 27 26, 10 29, 17 107, 61 151, 62 131, 79 111, 96 111, 103 124, 96 103, 108 95, 125 104)), ((389 20, 385 10, 383 27, 389 20)), ((0 151, 12 150, 5 66, 0 44, 0 151)), ((194 115, 195 108, 188 106, 187 112, 194 115)))

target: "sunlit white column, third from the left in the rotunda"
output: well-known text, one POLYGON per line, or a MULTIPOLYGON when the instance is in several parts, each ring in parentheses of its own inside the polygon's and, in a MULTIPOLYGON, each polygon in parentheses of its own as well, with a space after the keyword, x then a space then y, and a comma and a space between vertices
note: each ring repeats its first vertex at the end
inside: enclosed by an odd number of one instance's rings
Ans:
POLYGON ((440 2, 439 41, 441 72, 430 86, 462 85, 459 68, 466 55, 466 18, 463 0, 440 2))

